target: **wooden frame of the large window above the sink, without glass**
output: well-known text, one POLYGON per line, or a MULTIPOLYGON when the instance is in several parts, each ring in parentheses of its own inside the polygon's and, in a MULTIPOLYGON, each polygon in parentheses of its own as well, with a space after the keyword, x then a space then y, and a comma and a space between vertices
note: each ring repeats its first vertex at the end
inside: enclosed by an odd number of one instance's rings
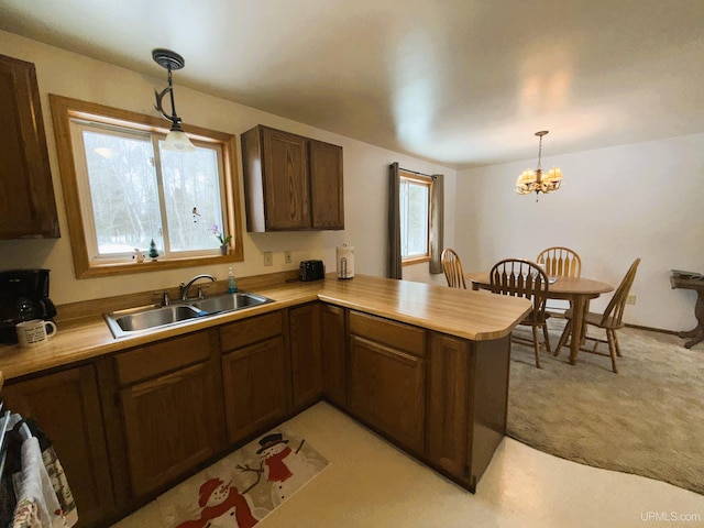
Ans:
MULTIPOLYGON (((66 215, 70 233, 74 268, 77 278, 88 278, 102 275, 140 273, 164 268, 193 267, 204 264, 221 262, 240 262, 244 260, 242 244, 242 229, 240 222, 239 182, 235 170, 237 142, 235 136, 196 127, 184 127, 191 142, 199 147, 212 148, 218 153, 218 169, 220 173, 220 200, 223 213, 221 231, 231 234, 229 252, 222 254, 220 249, 166 252, 160 254, 156 261, 148 257, 140 263, 130 254, 114 254, 98 256, 96 230, 91 210, 90 191, 88 188, 86 156, 82 148, 82 123, 91 123, 91 128, 105 130, 130 131, 150 138, 153 144, 155 164, 158 166, 158 141, 163 141, 167 129, 164 120, 152 116, 140 114, 127 110, 114 109, 101 105, 89 103, 61 96, 50 95, 56 146, 62 172, 64 200, 67 205, 66 215)), ((161 180, 161 175, 157 176, 161 180)), ((161 184, 160 184, 161 185, 161 184)), ((163 189, 160 189, 163 194, 163 189)), ((166 224, 163 223, 166 229, 166 224)), ((208 234, 215 235, 204 227, 208 234)), ((168 233, 163 233, 166 241, 168 233)))

